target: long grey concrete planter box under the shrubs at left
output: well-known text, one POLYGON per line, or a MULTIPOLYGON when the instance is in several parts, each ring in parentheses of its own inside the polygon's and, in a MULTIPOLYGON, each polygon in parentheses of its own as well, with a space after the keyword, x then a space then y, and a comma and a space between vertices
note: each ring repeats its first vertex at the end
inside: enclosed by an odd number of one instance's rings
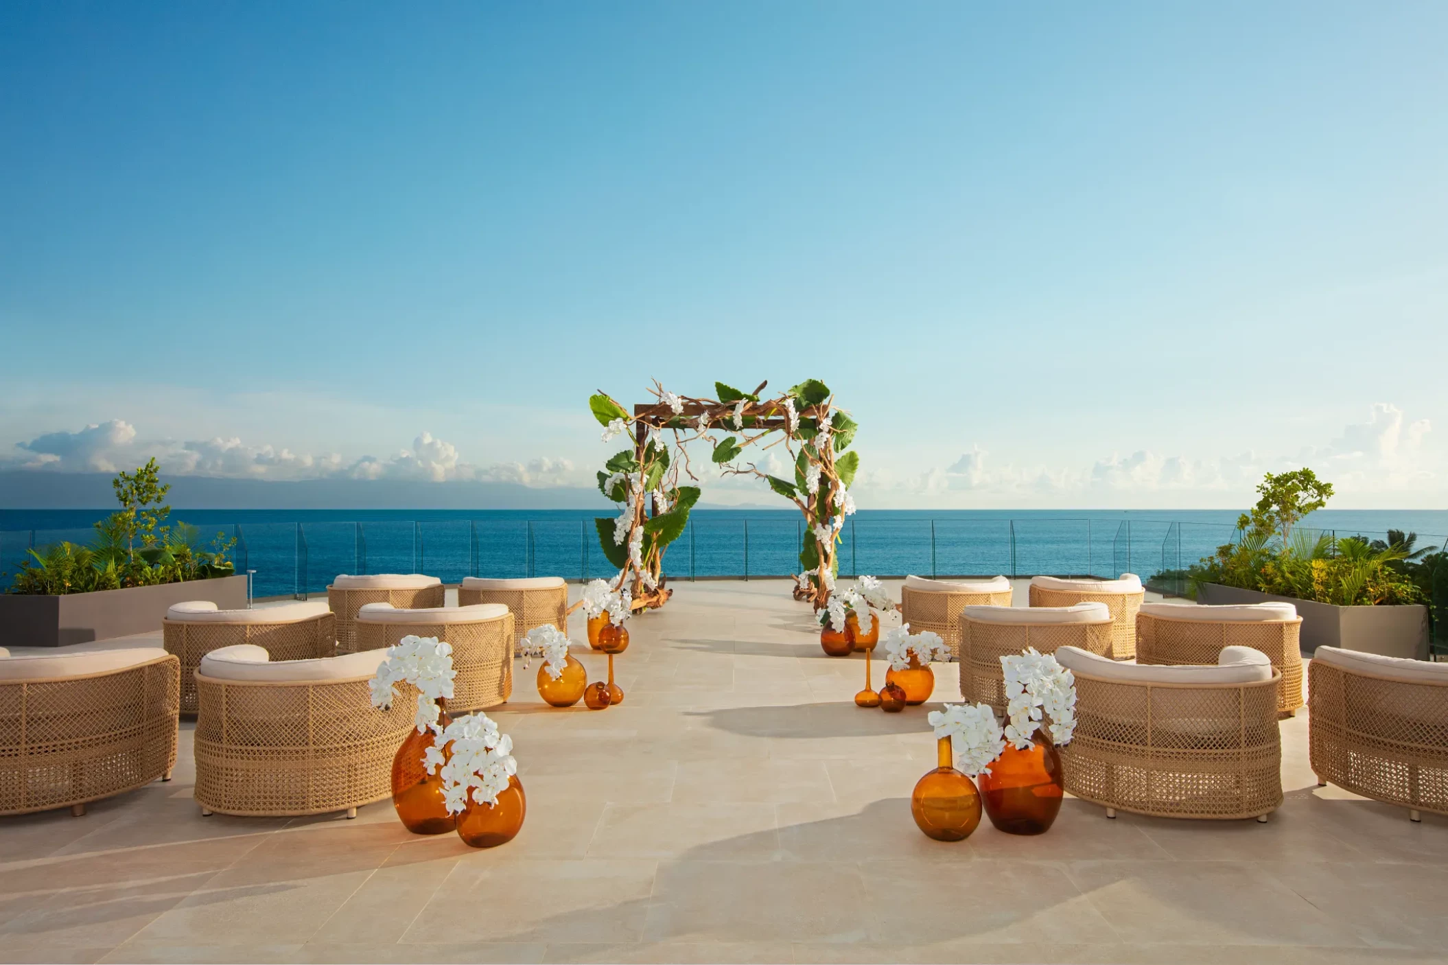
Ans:
POLYGON ((0 646, 67 646, 161 629, 167 609, 211 600, 223 610, 246 607, 246 575, 188 580, 64 597, 0 594, 0 646))

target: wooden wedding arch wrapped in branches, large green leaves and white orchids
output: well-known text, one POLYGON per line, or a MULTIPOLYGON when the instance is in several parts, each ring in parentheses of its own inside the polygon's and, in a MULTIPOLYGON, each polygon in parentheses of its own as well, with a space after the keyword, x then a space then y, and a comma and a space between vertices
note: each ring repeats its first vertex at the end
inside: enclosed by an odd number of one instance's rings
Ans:
POLYGON ((856 509, 849 487, 860 467, 859 454, 850 449, 857 425, 835 407, 820 380, 805 380, 772 398, 762 397, 766 384, 743 393, 715 383, 715 397, 704 398, 678 396, 656 381, 649 390, 654 401, 636 406, 633 413, 602 391, 588 400, 604 426, 604 442, 628 433, 634 443, 598 472, 598 490, 621 509, 617 517, 598 517, 595 525, 604 556, 618 567, 614 588, 631 580, 636 609, 663 606, 672 593, 665 587, 663 552, 683 533, 699 500, 688 445, 701 440, 710 445, 710 461, 720 472, 757 477, 799 509, 805 527, 795 598, 817 610, 828 601, 844 517, 856 509), (741 459, 746 451, 778 445, 794 465, 792 480, 741 459))

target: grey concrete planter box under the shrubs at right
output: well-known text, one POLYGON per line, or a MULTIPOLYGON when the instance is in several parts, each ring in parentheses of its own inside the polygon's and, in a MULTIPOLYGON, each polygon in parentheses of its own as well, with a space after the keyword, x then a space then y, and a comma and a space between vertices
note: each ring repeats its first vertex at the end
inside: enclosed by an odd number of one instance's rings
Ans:
POLYGON ((1203 582, 1197 603, 1290 603, 1302 617, 1302 651, 1341 646, 1384 656, 1428 658, 1428 607, 1338 607, 1296 597, 1279 597, 1257 590, 1203 582))

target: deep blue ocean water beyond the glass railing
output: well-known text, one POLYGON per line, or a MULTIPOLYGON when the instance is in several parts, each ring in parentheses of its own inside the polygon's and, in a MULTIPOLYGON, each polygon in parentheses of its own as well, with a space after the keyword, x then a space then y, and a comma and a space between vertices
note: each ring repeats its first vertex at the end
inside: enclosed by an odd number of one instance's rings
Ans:
MULTIPOLYGON (((0 585, 32 545, 84 543, 109 510, 0 510, 0 585)), ((595 510, 175 510, 204 536, 237 538, 237 569, 258 597, 324 591, 343 572, 466 575, 615 572, 595 510)), ((860 510, 843 530, 844 575, 1116 575, 1184 568, 1234 533, 1237 510, 860 510)), ((1448 510, 1323 510, 1308 526, 1339 536, 1416 530, 1448 542, 1448 510)), ((673 580, 799 571, 802 520, 791 510, 696 510, 669 546, 673 580)))

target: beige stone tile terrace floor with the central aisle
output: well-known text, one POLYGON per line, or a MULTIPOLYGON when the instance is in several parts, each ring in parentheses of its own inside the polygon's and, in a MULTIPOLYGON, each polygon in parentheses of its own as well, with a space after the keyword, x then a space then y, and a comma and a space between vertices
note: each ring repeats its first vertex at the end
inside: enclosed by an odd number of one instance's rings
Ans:
POLYGON ((860 658, 824 656, 786 582, 679 584, 630 633, 620 707, 549 709, 520 667, 510 845, 416 837, 385 801, 203 819, 182 723, 172 782, 0 819, 0 961, 1444 961, 1448 822, 1318 788, 1305 713, 1267 824, 1067 800, 1041 837, 947 845, 909 816, 928 706, 857 710, 860 658))

